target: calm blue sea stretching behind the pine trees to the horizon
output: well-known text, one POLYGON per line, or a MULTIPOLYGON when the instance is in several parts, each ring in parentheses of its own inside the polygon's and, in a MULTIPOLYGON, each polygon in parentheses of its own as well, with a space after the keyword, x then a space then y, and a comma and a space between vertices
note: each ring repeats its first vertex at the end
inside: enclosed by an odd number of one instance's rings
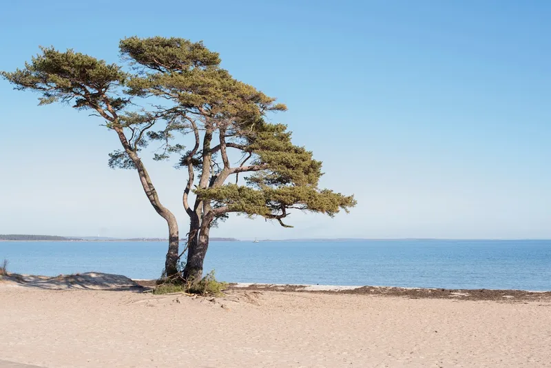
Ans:
MULTIPOLYGON (((166 243, 0 242, 10 272, 157 278, 166 243)), ((551 290, 551 241, 214 242, 205 270, 242 283, 551 290)))

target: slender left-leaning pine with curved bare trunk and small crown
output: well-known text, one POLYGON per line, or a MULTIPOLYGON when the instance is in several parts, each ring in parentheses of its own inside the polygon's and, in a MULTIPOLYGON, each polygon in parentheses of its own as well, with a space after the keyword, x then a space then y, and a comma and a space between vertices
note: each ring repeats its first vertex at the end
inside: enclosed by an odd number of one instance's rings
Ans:
POLYGON ((145 165, 139 156, 147 145, 147 132, 158 119, 153 113, 129 109, 129 95, 121 89, 129 79, 116 64, 107 64, 86 54, 54 48, 41 48, 41 54, 15 72, 1 72, 17 90, 41 94, 40 105, 73 103, 77 110, 93 110, 105 120, 105 126, 115 132, 123 150, 110 154, 111 167, 133 168, 138 172, 143 190, 156 212, 165 219, 169 230, 169 247, 165 261, 167 275, 178 270, 178 223, 176 217, 161 202, 145 165), (124 97, 120 97, 120 96, 124 97))

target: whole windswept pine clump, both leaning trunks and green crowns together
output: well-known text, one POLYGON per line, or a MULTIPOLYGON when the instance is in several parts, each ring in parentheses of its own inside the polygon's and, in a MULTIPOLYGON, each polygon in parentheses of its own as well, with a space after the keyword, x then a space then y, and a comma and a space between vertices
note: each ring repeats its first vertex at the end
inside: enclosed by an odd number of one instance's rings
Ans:
POLYGON ((334 216, 355 205, 353 196, 318 187, 322 163, 293 144, 287 126, 269 122, 267 115, 286 106, 234 79, 220 68, 218 53, 200 42, 123 39, 121 54, 132 72, 72 50, 41 50, 22 70, 2 75, 19 90, 39 92, 41 104, 93 110, 117 134, 122 150, 110 154, 110 166, 136 170, 149 202, 167 221, 169 278, 201 279, 210 229, 230 214, 291 227, 293 210, 334 216), (140 103, 149 108, 136 108, 140 103), (187 171, 182 202, 189 232, 181 275, 176 218, 160 202, 140 156, 151 142, 161 147, 154 159, 178 155, 187 171))

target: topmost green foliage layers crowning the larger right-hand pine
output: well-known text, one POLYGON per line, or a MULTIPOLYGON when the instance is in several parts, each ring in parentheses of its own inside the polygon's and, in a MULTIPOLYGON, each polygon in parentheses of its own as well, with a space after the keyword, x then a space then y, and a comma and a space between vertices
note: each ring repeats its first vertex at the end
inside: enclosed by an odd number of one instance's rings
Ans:
POLYGON ((233 79, 220 68, 218 53, 201 42, 129 37, 121 40, 120 48, 123 57, 142 72, 128 81, 129 94, 161 96, 188 112, 203 110, 218 118, 251 119, 260 110, 286 110, 275 99, 233 79))

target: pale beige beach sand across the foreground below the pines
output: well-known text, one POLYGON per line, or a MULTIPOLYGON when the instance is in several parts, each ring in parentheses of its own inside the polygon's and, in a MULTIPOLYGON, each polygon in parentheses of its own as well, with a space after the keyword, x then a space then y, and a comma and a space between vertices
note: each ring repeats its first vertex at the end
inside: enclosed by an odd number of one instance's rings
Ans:
POLYGON ((60 285, 0 282, 0 367, 551 367, 546 299, 60 285))

